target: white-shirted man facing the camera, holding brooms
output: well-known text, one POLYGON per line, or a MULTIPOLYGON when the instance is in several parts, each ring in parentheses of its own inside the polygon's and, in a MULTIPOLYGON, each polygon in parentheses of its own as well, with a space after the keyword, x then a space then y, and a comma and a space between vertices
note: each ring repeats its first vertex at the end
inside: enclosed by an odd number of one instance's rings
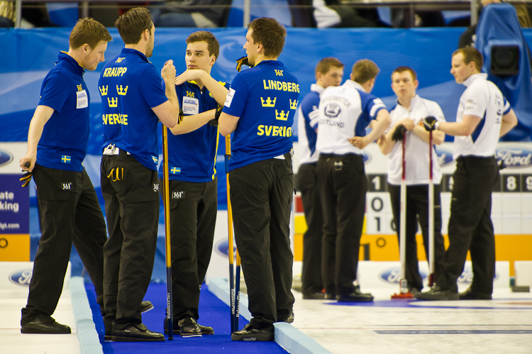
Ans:
MULTIPOLYGON (((392 126, 379 139, 379 148, 388 155, 388 190, 392 201, 392 211, 399 238, 401 208, 402 143, 392 140, 397 128, 406 129, 405 141, 405 180, 406 180, 406 259, 405 279, 411 294, 423 288, 423 278, 419 274, 416 232, 419 224, 423 234, 423 245, 427 260, 428 255, 428 182, 429 182, 429 133, 423 128, 423 118, 434 116, 438 121, 445 121, 440 106, 416 94, 419 86, 417 74, 411 67, 401 66, 392 72, 392 89, 397 95, 397 105, 390 112, 392 126)), ((402 133, 399 130, 399 136, 402 133)), ((402 139, 401 139, 402 140, 402 139)), ((445 140, 445 133, 435 131, 433 143, 440 145, 445 140)), ((443 236, 441 236, 440 180, 441 170, 438 165, 436 150, 431 149, 434 181, 434 275, 440 275, 441 258, 445 253, 443 236)))

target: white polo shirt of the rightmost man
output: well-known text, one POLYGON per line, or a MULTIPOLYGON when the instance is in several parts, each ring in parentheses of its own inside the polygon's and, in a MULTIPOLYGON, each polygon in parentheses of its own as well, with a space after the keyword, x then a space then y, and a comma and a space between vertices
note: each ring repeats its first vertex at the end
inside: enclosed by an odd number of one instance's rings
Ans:
POLYGON ((471 135, 455 136, 453 158, 459 156, 489 157, 495 153, 501 132, 502 116, 511 107, 487 74, 471 75, 464 82, 467 87, 460 97, 456 121, 461 122, 464 114, 481 118, 471 135))

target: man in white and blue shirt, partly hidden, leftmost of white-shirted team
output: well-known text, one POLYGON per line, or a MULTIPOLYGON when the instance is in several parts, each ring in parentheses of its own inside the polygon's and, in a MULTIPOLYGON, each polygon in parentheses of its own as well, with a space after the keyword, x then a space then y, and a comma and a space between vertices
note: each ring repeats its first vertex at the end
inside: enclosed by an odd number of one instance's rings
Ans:
POLYGON ((316 165, 316 130, 318 128, 318 106, 320 95, 329 86, 342 82, 343 63, 336 57, 324 57, 316 65, 316 84, 301 100, 299 106, 299 151, 301 153, 296 184, 301 192, 306 225, 303 236, 303 269, 301 270, 301 292, 303 299, 323 299, 321 280, 321 238, 323 237, 323 211, 318 188, 316 165))

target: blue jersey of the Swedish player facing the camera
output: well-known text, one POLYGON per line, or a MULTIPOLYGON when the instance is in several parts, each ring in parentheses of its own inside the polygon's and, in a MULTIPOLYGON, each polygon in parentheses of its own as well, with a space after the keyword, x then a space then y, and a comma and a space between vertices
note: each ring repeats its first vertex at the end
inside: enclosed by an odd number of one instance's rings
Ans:
MULTIPOLYGON (((229 85, 220 82, 227 89, 229 85)), ((191 81, 176 85, 179 106, 185 116, 216 109, 218 104, 209 90, 191 81)), ((190 133, 168 133, 168 173, 170 179, 187 182, 209 182, 216 177, 216 153, 218 149, 218 126, 205 124, 190 133)), ((159 167, 162 178, 162 164, 159 167)))

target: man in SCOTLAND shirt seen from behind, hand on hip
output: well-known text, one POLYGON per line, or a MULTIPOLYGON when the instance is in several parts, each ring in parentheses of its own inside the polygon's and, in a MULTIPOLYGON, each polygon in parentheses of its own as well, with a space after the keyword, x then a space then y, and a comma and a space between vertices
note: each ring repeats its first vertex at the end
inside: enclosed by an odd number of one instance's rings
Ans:
POLYGON ((354 283, 367 192, 362 149, 379 138, 390 123, 384 103, 370 94, 378 72, 379 67, 371 60, 355 62, 350 79, 342 86, 328 87, 318 108, 321 267, 326 299, 338 302, 373 301, 371 294, 363 294, 354 283), (366 135, 370 123, 373 129, 366 135))

